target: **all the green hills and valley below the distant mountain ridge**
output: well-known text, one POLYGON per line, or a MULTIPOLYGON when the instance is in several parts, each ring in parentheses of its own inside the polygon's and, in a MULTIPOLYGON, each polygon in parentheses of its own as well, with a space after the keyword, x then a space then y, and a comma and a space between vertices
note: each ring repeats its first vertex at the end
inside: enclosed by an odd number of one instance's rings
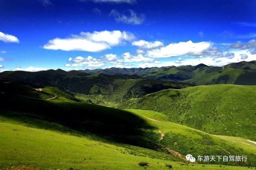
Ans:
MULTIPOLYGON (((251 63, 230 64, 223 72, 234 77, 235 69, 253 70, 251 63)), ((0 73, 0 98, 4 99, 0 168, 256 167, 256 86, 236 85, 231 79, 225 84, 196 86, 191 81, 136 74, 91 74, 63 70, 0 73), (187 154, 195 156, 196 162, 187 161, 187 154), (248 159, 198 160, 205 155, 248 159)))

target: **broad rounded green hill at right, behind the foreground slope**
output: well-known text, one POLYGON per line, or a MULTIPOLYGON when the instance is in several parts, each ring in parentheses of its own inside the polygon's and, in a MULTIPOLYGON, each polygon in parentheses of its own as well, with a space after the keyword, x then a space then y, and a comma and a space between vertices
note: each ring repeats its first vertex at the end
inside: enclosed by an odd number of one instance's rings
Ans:
POLYGON ((256 140, 256 86, 213 85, 168 89, 122 103, 119 108, 164 113, 202 131, 256 140))

